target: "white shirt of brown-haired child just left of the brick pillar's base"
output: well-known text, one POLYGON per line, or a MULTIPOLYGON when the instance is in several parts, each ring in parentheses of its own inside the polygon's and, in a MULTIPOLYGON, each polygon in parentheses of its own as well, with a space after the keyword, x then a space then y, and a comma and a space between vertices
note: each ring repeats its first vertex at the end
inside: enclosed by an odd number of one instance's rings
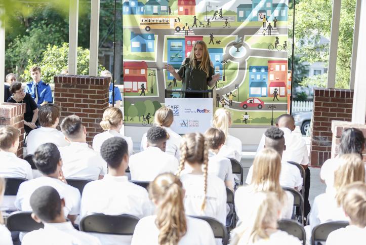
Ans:
POLYGON ((40 127, 29 132, 27 137, 27 154, 34 154, 38 146, 45 143, 54 143, 56 146, 66 146, 70 143, 65 140, 61 131, 53 128, 40 127))

